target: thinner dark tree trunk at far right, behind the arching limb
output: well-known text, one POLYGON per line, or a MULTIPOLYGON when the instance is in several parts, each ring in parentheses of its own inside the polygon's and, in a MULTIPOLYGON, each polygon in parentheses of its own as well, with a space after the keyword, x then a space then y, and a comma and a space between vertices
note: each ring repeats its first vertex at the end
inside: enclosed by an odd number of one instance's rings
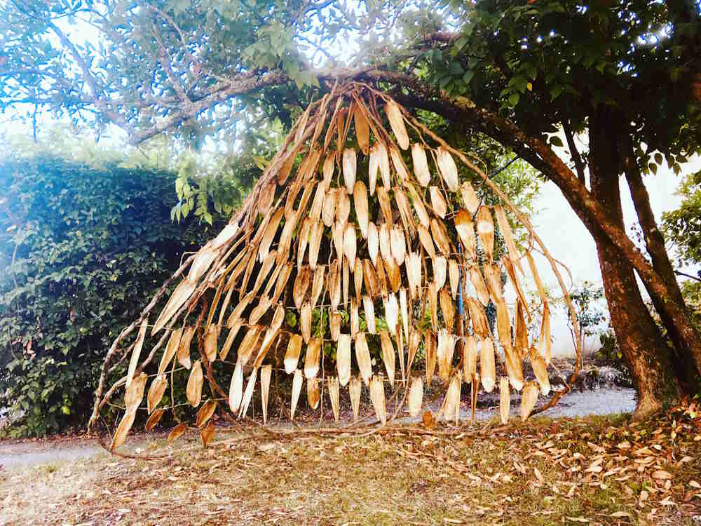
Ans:
MULTIPOLYGON (((665 238, 662 237, 660 229, 658 229, 655 215, 653 214, 650 205, 648 191, 645 188, 643 177, 634 158, 632 144, 629 139, 625 141, 625 160, 624 170, 625 177, 630 189, 630 194, 633 198, 635 211, 638 216, 638 222, 643 231, 645 246, 650 255, 653 268, 660 275, 660 278, 665 281, 667 290, 669 290, 669 299, 683 306, 686 309, 686 304, 679 289, 679 283, 674 275, 672 262, 667 255, 665 247, 665 238)), ((699 346, 699 336, 696 332, 685 335, 680 328, 674 323, 672 318, 664 309, 665 299, 660 297, 655 290, 648 289, 648 294, 655 306, 655 311, 660 315, 662 324, 665 325, 667 335, 674 344, 674 369, 679 381, 682 382, 686 391, 693 390, 697 379, 696 366, 693 363, 694 346, 699 346)))

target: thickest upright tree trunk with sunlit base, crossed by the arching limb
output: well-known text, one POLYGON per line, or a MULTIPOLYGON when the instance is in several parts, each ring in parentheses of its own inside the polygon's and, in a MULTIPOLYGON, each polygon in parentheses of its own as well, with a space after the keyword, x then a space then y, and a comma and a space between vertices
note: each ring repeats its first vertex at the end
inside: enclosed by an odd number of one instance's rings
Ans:
MULTIPOLYGON (((590 178, 593 198, 607 210, 608 220, 622 228, 620 156, 615 133, 611 133, 613 119, 597 114, 590 121, 590 178)), ((638 393, 634 417, 646 417, 681 396, 669 347, 643 302, 630 262, 601 229, 590 232, 597 244, 611 325, 638 393)))

